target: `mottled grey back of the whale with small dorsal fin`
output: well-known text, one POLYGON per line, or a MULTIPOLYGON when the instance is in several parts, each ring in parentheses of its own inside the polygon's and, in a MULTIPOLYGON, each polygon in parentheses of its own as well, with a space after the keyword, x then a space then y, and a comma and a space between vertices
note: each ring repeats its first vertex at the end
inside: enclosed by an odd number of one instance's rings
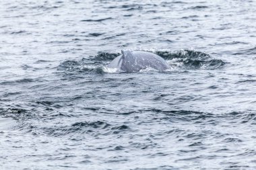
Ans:
POLYGON ((117 56, 110 62, 108 68, 121 69, 125 72, 137 72, 147 68, 164 71, 170 69, 170 66, 164 58, 152 52, 122 50, 122 55, 117 56))

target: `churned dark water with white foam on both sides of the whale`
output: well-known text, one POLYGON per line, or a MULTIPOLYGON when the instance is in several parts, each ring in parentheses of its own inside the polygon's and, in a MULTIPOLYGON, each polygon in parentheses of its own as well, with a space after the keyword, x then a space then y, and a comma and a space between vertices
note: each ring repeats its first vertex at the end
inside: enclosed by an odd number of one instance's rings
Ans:
MULTIPOLYGON (((131 49, 129 49, 131 50, 131 49)), ((133 50, 153 52, 158 54, 164 60, 167 60, 171 68, 174 69, 218 69, 222 67, 225 62, 212 58, 209 54, 196 50, 155 50, 155 49, 141 49, 136 48, 133 50)), ((98 52, 96 56, 90 56, 89 58, 82 58, 82 60, 66 60, 58 67, 58 71, 76 71, 82 73, 119 73, 122 72, 118 69, 109 69, 106 67, 108 63, 121 55, 116 52, 98 52)), ((152 71, 152 69, 146 69, 145 71, 152 71)), ((168 70, 170 71, 170 70, 168 70)))

